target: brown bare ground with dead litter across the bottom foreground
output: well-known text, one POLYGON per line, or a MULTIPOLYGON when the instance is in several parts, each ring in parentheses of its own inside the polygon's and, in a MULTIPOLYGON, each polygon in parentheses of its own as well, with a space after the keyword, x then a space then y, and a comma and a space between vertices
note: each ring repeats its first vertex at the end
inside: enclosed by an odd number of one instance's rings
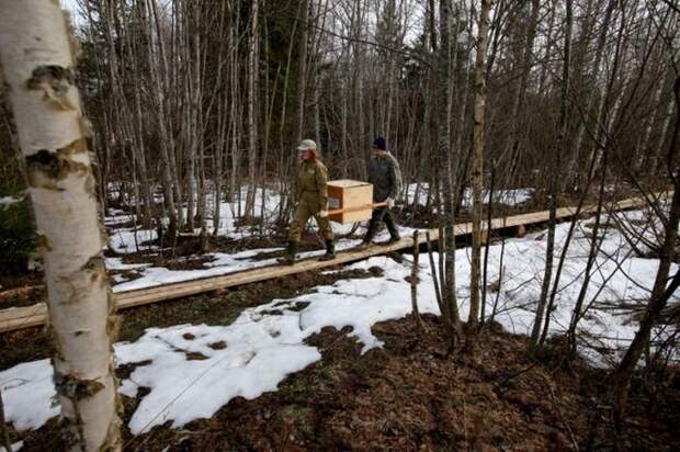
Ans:
MULTIPOLYGON (((347 334, 309 340, 322 360, 254 400, 233 399, 213 418, 131 437, 131 451, 303 450, 655 450, 680 448, 680 377, 634 382, 624 433, 614 438, 605 374, 551 349, 535 360, 525 338, 491 327, 472 355, 446 355, 439 318, 374 327, 384 349, 361 355, 347 334), (168 448, 168 449, 166 449, 168 448)), ((122 370, 118 370, 122 373, 122 370)), ((129 372, 129 370, 128 370, 129 372)), ((122 376, 122 375, 121 375, 122 376)), ((139 399, 124 397, 124 420, 139 399)), ((23 450, 60 450, 58 423, 25 438, 23 450), (47 449, 46 449, 47 448, 47 449)))

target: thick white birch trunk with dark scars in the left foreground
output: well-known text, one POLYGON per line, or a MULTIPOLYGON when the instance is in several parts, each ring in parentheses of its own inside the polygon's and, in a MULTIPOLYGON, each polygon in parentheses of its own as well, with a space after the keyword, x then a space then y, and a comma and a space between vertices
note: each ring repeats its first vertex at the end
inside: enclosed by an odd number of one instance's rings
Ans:
POLYGON ((72 43, 58 3, 0 1, 0 57, 41 231, 53 359, 71 451, 121 449, 113 304, 72 43))

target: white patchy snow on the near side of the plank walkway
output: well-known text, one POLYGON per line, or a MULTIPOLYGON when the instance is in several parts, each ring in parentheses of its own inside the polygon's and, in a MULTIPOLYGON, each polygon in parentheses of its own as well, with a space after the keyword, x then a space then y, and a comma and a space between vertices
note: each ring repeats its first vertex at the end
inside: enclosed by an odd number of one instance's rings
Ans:
MULTIPOLYGON (((643 213, 626 213, 643 218, 643 213)), ((579 222, 568 251, 553 313, 551 334, 564 332, 573 305, 582 283, 592 219, 579 222)), ((564 244, 569 225, 557 227, 556 242, 564 244)), ((586 304, 645 301, 654 283, 658 260, 632 255, 631 246, 616 228, 602 233, 604 240, 599 255, 586 304)), ((503 275, 499 292, 489 291, 487 316, 506 329, 529 334, 534 318, 534 303, 541 290, 546 239, 544 233, 508 239, 505 245, 503 275), (496 305, 496 309, 494 306, 496 305)), ((557 246, 556 256, 562 251, 557 246)), ((489 282, 498 280, 501 245, 489 247, 489 282)), ((435 259, 438 257, 435 256, 435 259)), ((456 252, 456 280, 461 315, 465 319, 469 298, 469 248, 456 252)), ((555 262, 556 263, 556 262, 555 262)), ((229 399, 248 399, 264 392, 276 391, 286 375, 303 370, 320 359, 315 347, 305 339, 324 327, 351 327, 350 336, 362 344, 362 352, 382 347, 371 327, 378 321, 398 319, 410 313, 410 274, 407 259, 398 263, 387 257, 374 257, 350 265, 351 269, 384 270, 382 276, 341 280, 332 285, 317 286, 316 292, 292 300, 245 309, 230 325, 179 325, 149 328, 135 342, 115 344, 118 365, 137 366, 121 385, 121 393, 135 396, 140 387, 150 392, 141 397, 128 425, 134 434, 168 420, 180 427, 197 418, 213 416, 229 399), (195 359, 200 353, 200 358, 195 359)), ((671 271, 677 271, 673 265, 671 271)), ((420 265, 418 287, 420 310, 438 314, 429 262, 420 265)), ((676 296, 680 300, 680 296, 676 296)), ((579 351, 596 365, 605 366, 620 359, 636 331, 636 324, 615 310, 590 310, 580 329, 590 335, 594 346, 610 352, 596 352, 588 343, 579 351)), ((8 421, 16 429, 37 428, 57 415, 53 406, 55 389, 48 360, 20 364, 0 372, 0 387, 5 398, 8 421)))

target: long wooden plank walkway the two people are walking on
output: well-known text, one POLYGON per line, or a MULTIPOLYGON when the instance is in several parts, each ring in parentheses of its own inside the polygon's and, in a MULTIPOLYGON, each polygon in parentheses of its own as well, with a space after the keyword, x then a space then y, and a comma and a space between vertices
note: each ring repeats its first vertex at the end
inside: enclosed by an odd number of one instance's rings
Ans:
MULTIPOLYGON (((668 193, 666 193, 668 194, 668 193)), ((672 193, 671 193, 672 194, 672 193)), ((658 195, 657 195, 658 196, 658 195)), ((656 196, 655 196, 656 197, 656 196)), ((619 201, 613 205, 607 206, 608 212, 624 211, 628 208, 639 207, 647 202, 643 197, 633 197, 619 201)), ((581 215, 589 215, 596 212, 596 205, 587 205, 581 208, 581 215)), ((576 213, 576 207, 562 207, 557 210, 557 219, 564 221, 571 218, 576 213)), ((549 212, 533 212, 529 214, 512 215, 505 218, 494 218, 491 221, 491 229, 519 228, 530 225, 536 225, 547 222, 549 212)), ((484 222, 483 230, 487 229, 487 223, 484 222)), ((463 223, 456 225, 455 235, 465 236, 472 233, 472 223, 463 223)), ((439 239, 437 229, 430 230, 430 239, 435 241, 439 239)), ((426 234, 421 233, 419 241, 426 241, 426 234)), ((166 300, 181 298, 200 293, 216 291, 225 287, 234 287, 237 285, 248 284, 252 282, 272 280, 294 273, 302 273, 310 270, 322 269, 326 267, 337 265, 339 263, 355 262, 370 258, 372 256, 384 255, 389 251, 411 248, 413 246, 412 237, 403 237, 399 241, 390 245, 375 245, 359 250, 342 251, 331 261, 318 261, 315 258, 302 260, 295 265, 267 265, 258 267, 250 270, 229 273, 222 276, 209 276, 183 281, 178 283, 158 285, 154 287, 137 289, 128 292, 120 292, 113 294, 116 309, 141 306, 150 303, 162 302, 166 300)), ((47 317, 47 306, 45 303, 37 303, 33 306, 23 306, 0 309, 0 332, 12 331, 29 327, 41 326, 47 317)))

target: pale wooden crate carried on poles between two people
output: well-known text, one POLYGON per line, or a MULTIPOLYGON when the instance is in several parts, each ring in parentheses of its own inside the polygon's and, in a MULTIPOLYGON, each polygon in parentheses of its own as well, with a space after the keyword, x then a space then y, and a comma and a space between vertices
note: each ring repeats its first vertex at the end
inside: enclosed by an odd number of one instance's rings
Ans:
POLYGON ((370 219, 373 213, 373 185, 350 179, 329 181, 328 211, 328 218, 341 224, 370 219))

